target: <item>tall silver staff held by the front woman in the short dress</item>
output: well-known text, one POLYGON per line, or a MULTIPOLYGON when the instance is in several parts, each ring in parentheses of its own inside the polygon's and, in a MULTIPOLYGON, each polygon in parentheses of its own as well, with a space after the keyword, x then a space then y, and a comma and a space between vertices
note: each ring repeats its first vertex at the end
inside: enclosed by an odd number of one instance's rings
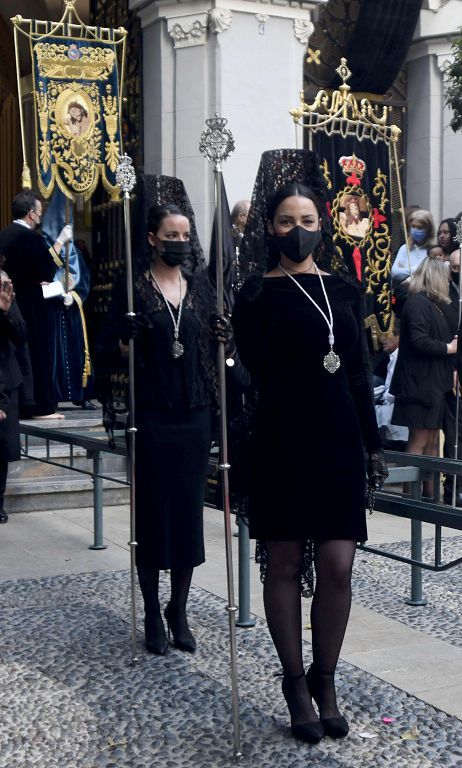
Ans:
MULTIPOLYGON (((204 157, 213 163, 215 177, 215 251, 216 251, 216 285, 217 285, 217 309, 220 315, 224 314, 224 285, 223 285, 223 209, 221 200, 221 163, 234 151, 234 139, 232 133, 226 128, 228 121, 224 117, 210 118, 205 121, 207 129, 202 132, 199 143, 199 151, 204 157)), ((225 343, 218 345, 218 384, 220 397, 220 463, 218 465, 222 473, 222 498, 225 523, 226 546, 226 574, 228 580, 228 611, 229 618, 229 643, 231 665, 231 689, 232 710, 234 726, 234 758, 236 761, 242 757, 241 733, 239 722, 239 692, 237 681, 237 651, 236 651, 236 611, 234 602, 234 578, 233 578, 233 553, 231 534, 231 512, 229 504, 229 475, 228 470, 228 432, 226 428, 226 366, 225 343)))

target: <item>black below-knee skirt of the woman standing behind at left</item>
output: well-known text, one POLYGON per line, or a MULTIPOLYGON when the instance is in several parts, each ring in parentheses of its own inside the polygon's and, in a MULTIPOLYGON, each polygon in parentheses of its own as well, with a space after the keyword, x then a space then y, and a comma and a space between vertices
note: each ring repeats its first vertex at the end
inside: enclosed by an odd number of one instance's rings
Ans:
POLYGON ((194 568, 205 560, 203 505, 210 408, 137 415, 137 564, 194 568))

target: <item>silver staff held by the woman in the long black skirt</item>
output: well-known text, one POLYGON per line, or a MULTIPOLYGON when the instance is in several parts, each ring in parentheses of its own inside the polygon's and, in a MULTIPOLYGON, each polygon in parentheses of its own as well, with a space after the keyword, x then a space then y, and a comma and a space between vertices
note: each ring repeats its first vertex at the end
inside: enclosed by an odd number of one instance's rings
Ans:
MULTIPOLYGON (((127 270, 127 317, 135 317, 133 307, 132 233, 130 224, 130 192, 136 184, 132 159, 122 155, 116 171, 116 181, 124 200, 125 258, 127 270)), ((135 346, 128 340, 128 465, 130 477, 130 591, 132 662, 138 661, 136 648, 136 525, 135 525, 135 346)))

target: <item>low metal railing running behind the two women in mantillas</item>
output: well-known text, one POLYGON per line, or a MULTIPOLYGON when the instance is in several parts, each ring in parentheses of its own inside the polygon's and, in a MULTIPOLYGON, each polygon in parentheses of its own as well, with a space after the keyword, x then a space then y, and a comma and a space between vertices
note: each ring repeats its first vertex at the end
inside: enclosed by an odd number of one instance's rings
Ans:
MULTIPOLYGON (((65 432, 62 429, 48 429, 32 424, 20 423, 21 434, 24 435, 22 455, 24 458, 41 461, 59 468, 70 469, 90 477, 93 483, 93 544, 90 549, 106 549, 103 540, 103 481, 129 487, 128 477, 116 478, 102 472, 103 454, 126 456, 127 448, 124 433, 115 435, 115 447, 110 448, 105 432, 65 432), (45 458, 30 452, 29 438, 40 438, 45 442, 45 458), (52 457, 52 443, 69 445, 69 456, 65 462, 56 461, 52 457), (93 462, 92 470, 75 466, 74 448, 83 448, 86 457, 93 462)), ((35 446, 37 447, 37 446, 35 446)), ((33 447, 32 447, 33 450, 33 447)), ((462 531, 462 509, 441 504, 439 500, 440 476, 462 475, 462 462, 454 459, 438 459, 432 456, 415 456, 414 454, 386 451, 389 477, 384 490, 376 495, 375 510, 385 514, 407 518, 411 521, 411 556, 406 557, 389 550, 358 544, 363 552, 380 555, 397 560, 411 566, 411 594, 406 601, 409 605, 425 605, 422 594, 422 571, 446 571, 462 563, 462 556, 443 562, 442 528, 462 531), (431 500, 422 499, 422 482, 433 476, 435 494, 431 500), (389 486, 407 483, 409 494, 389 490, 389 486), (434 555, 433 561, 423 559, 422 524, 434 526, 434 555)), ((211 457, 211 466, 214 458, 211 457)), ((207 506, 213 506, 210 498, 206 499, 207 506)), ((245 524, 239 525, 238 545, 239 573, 239 613, 236 617, 237 626, 254 626, 255 620, 250 613, 250 541, 249 530, 245 524)))

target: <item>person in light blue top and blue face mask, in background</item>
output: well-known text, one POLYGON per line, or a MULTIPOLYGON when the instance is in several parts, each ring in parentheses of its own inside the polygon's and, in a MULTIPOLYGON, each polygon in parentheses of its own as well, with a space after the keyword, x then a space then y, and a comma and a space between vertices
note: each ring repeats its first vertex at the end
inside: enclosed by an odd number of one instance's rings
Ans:
POLYGON ((391 268, 394 285, 402 283, 427 257, 427 248, 435 239, 435 224, 430 211, 420 209, 409 216, 408 247, 399 249, 391 268), (409 248, 409 252, 408 252, 409 248))

